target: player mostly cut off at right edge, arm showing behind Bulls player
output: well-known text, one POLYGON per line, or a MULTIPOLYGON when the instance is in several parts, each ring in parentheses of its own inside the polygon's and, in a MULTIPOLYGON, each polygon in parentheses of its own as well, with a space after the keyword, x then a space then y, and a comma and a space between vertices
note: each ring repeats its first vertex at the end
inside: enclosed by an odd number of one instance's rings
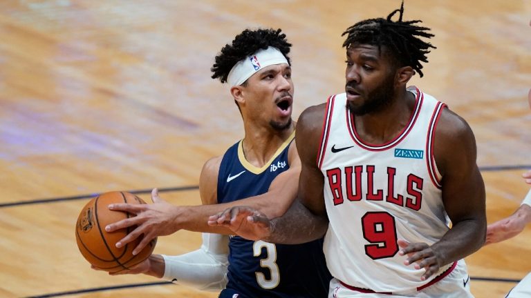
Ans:
MULTIPOLYGON (((531 108, 531 90, 528 93, 528 100, 531 108)), ((531 170, 525 172, 523 178, 525 182, 531 184, 531 170)), ((485 241, 485 245, 494 244, 519 235, 529 223, 531 223, 531 190, 523 199, 520 207, 510 217, 487 226, 487 241, 485 241)), ((506 297, 531 297, 531 273, 526 275, 506 297)))

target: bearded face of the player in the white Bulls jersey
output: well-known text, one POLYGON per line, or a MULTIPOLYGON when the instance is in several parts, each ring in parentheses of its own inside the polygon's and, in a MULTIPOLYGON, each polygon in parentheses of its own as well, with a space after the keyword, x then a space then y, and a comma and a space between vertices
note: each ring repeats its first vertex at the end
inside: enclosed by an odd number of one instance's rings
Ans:
POLYGON ((382 51, 364 44, 350 46, 346 51, 347 108, 354 115, 378 112, 393 100, 395 68, 382 51))

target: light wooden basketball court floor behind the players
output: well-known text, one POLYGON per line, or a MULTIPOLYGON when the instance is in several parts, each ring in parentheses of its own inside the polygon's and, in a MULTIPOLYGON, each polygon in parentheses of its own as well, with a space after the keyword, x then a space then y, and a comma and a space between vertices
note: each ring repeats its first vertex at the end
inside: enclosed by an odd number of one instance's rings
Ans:
MULTIPOLYGON (((294 119, 344 90, 342 32, 398 0, 0 2, 0 297, 216 297, 147 276, 91 270, 75 221, 93 195, 151 188, 200 203, 210 157, 243 137, 214 56, 244 28, 282 28, 292 47, 294 119)), ((411 85, 465 118, 478 146, 487 220, 530 189, 531 1, 406 0, 437 47, 411 85)), ((466 199, 466 198, 463 198, 466 199)), ((156 253, 198 248, 161 237, 156 253)), ((531 227, 467 257, 476 297, 504 297, 531 271, 531 227)))

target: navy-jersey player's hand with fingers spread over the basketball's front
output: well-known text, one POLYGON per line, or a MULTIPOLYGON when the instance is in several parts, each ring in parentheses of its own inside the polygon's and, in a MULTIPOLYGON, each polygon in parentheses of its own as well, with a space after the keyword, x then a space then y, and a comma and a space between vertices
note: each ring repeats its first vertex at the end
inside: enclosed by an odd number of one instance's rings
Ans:
POLYGON ((107 232, 114 232, 122 228, 136 226, 126 237, 116 243, 116 247, 120 248, 144 235, 142 241, 133 250, 133 255, 137 255, 152 239, 158 236, 171 235, 178 230, 176 225, 178 207, 160 199, 157 188, 153 188, 151 191, 151 199, 153 200, 152 204, 114 203, 109 205, 110 210, 124 211, 135 215, 105 227, 107 232))

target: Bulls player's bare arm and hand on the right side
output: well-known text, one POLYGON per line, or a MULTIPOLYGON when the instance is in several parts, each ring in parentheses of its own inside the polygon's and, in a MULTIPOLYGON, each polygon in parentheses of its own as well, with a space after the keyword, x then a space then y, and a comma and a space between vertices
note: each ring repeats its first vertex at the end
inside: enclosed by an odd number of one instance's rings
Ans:
POLYGON ((400 254, 410 254, 407 264, 425 268, 422 279, 439 268, 472 254, 485 242, 485 184, 476 165, 476 141, 468 124, 453 112, 443 110, 435 135, 436 164, 442 179, 443 203, 452 227, 440 241, 399 244, 400 254), (414 252, 414 253, 413 253, 414 252))

